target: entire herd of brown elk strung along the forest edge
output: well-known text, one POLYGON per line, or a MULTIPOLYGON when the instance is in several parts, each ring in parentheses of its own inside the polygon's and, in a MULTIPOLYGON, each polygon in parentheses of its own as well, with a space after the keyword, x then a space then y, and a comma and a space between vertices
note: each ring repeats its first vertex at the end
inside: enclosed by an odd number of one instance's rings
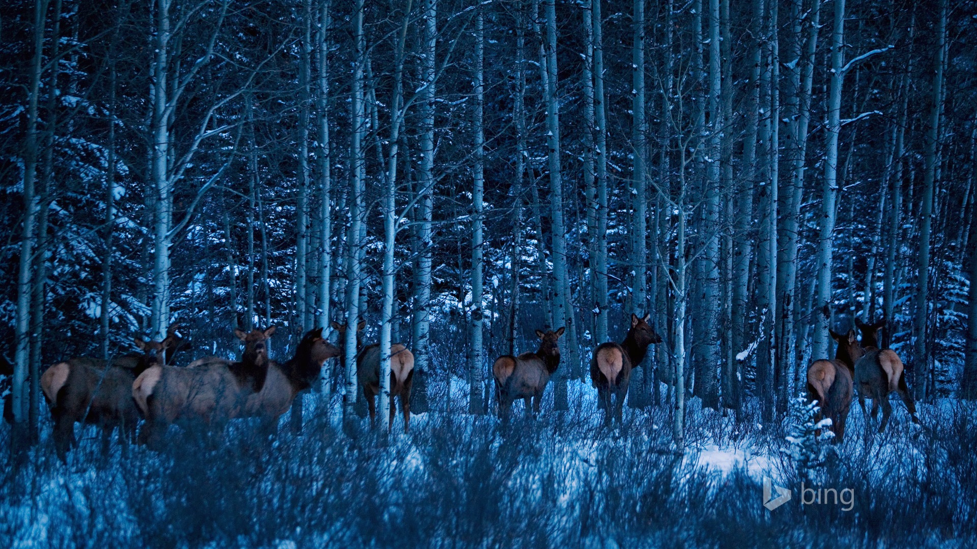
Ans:
MULTIPOLYGON (((641 364, 648 347, 661 343, 661 337, 649 323, 650 316, 632 314, 630 327, 620 344, 607 342, 598 346, 590 361, 590 378, 597 389, 598 400, 605 408, 605 424, 621 422, 622 404, 627 395, 631 370, 641 364)), ((845 424, 854 391, 866 414, 865 398, 872 400, 871 418, 882 408, 879 432, 892 412, 888 397, 896 392, 905 401, 913 418, 915 404, 906 384, 905 367, 891 349, 878 349, 877 332, 885 320, 871 324, 855 318, 861 331, 838 334, 828 330, 837 343, 834 359, 814 360, 807 370, 807 393, 818 401, 821 415, 831 420, 835 443, 844 440, 845 424)), ((347 324, 331 323, 339 332, 339 345, 323 336, 322 328, 307 332, 299 342, 295 356, 278 364, 269 358, 267 341, 276 327, 245 332, 234 330, 244 345, 239 360, 205 357, 188 366, 171 365, 176 351, 189 347, 174 327, 159 342, 134 338, 140 355, 112 360, 67 359, 45 370, 40 385, 54 419, 54 442, 61 459, 75 445, 74 424, 95 424, 102 429, 105 453, 111 433, 119 430, 123 451, 135 439, 139 420, 146 423, 139 441, 158 446, 165 430, 172 424, 190 426, 223 426, 240 417, 260 418, 265 429, 274 430, 278 418, 287 411, 298 395, 310 389, 320 378, 326 360, 345 352, 347 324)), ((380 393, 380 345, 361 346, 357 325, 357 380, 369 406, 371 424, 376 419, 375 399, 380 393)), ((498 413, 508 418, 512 402, 524 400, 528 416, 539 413, 543 392, 550 377, 560 365, 559 338, 565 328, 535 330, 539 348, 518 357, 503 355, 492 363, 498 413)), ((404 344, 391 345, 390 423, 396 415, 395 399, 400 397, 404 413, 404 432, 410 424, 410 389, 414 375, 414 357, 404 344)), ((8 373, 8 372, 5 372, 8 373)), ((868 414, 866 414, 868 415, 868 414)))

